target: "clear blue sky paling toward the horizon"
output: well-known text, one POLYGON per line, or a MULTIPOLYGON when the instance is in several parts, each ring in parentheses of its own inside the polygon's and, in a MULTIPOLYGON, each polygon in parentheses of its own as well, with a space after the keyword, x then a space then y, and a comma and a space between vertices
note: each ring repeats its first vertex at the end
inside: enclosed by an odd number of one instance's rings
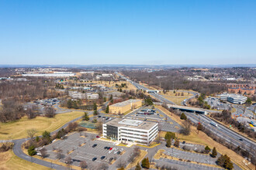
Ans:
POLYGON ((1 0, 0 64, 255 64, 255 9, 255 0, 1 0))

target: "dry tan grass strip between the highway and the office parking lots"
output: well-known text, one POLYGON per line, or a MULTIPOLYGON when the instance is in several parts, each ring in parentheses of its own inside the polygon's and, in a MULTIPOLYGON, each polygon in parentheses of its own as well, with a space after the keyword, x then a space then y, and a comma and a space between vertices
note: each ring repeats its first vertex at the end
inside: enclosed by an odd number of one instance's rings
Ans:
MULTIPOLYGON (((172 114, 171 116, 171 113, 168 110, 164 109, 163 107, 157 106, 157 108, 161 109, 162 111, 164 111, 164 113, 168 114, 168 116, 171 117, 171 119, 176 121, 178 124, 182 124, 182 120, 177 115, 172 114)), ((166 132, 161 132, 160 134, 161 137, 164 137, 165 133, 166 132)), ((184 136, 182 134, 176 133, 176 137, 178 137, 180 141, 188 141, 189 143, 208 145, 209 148, 216 147, 216 150, 220 152, 220 154, 229 155, 231 160, 235 162, 237 165, 239 165, 241 168, 249 169, 247 166, 244 165, 243 163, 244 158, 242 156, 237 155, 237 153, 235 153, 234 151, 214 141, 212 138, 209 138, 209 136, 207 136, 202 131, 199 131, 199 134, 198 134, 194 126, 191 126, 191 133, 189 134, 189 136, 184 136)), ((250 165, 250 166, 252 166, 251 169, 255 169, 255 166, 253 165, 250 165)))

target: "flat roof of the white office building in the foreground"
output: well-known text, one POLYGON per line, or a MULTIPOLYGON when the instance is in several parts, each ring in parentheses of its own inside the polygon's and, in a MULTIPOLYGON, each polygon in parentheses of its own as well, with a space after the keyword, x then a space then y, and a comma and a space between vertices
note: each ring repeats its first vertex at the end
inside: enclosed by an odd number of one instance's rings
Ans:
POLYGON ((154 127, 154 125, 157 123, 150 122, 150 121, 138 121, 133 119, 115 118, 112 121, 107 122, 106 124, 115 126, 115 127, 126 127, 126 128, 150 130, 150 128, 154 127))

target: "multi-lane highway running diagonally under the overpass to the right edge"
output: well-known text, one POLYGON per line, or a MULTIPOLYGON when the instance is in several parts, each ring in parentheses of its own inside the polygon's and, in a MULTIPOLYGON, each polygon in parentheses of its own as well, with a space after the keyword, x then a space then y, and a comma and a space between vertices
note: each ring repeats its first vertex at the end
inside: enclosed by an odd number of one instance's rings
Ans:
MULTIPOLYGON (((117 74, 119 76, 123 77, 123 79, 132 83, 138 89, 148 90, 146 87, 143 87, 139 83, 135 83, 132 80, 129 80, 128 78, 126 78, 125 76, 120 75, 119 73, 117 73, 117 74)), ((150 93, 150 95, 153 97, 156 97, 158 100, 160 100, 161 102, 164 102, 166 104, 173 104, 173 102, 165 99, 158 93, 150 93)), ((207 110, 207 111, 210 112, 211 110, 207 110)), ((210 122, 213 120, 204 114, 196 115, 196 114, 193 114, 190 112, 186 112, 186 115, 195 124, 198 124, 199 120, 200 120, 200 123, 202 123, 205 128, 208 128, 214 134, 216 134, 220 138, 223 138, 226 142, 228 142, 228 143, 232 142, 234 145, 240 146, 240 148, 243 148, 243 149, 249 151, 252 156, 256 155, 256 153, 254 153, 254 151, 252 151, 252 149, 256 148, 256 143, 254 141, 251 141, 250 139, 245 138, 243 135, 240 135, 237 132, 230 130, 229 128, 223 126, 222 124, 217 123, 216 121, 214 121, 214 122, 216 124, 218 124, 218 127, 214 127, 213 125, 210 124, 210 122)))

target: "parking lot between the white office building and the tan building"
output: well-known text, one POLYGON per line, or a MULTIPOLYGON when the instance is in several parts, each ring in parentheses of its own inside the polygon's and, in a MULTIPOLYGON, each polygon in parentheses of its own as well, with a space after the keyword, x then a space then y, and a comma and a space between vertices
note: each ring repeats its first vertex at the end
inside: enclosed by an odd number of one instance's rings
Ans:
POLYGON ((181 126, 173 121, 170 117, 166 116, 161 110, 154 108, 155 110, 154 114, 137 114, 138 112, 146 112, 143 110, 151 110, 152 107, 140 107, 137 110, 133 110, 130 114, 126 115, 126 118, 130 119, 138 119, 142 121, 154 121, 159 123, 159 129, 161 131, 172 131, 172 132, 178 132, 181 128, 181 126))

